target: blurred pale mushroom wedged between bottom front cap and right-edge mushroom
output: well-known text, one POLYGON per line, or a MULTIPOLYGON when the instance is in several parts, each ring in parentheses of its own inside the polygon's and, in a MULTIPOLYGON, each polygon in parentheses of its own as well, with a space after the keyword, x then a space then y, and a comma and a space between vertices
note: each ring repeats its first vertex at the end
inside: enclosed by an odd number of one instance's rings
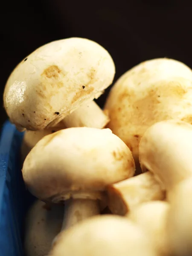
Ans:
POLYGON ((161 256, 170 255, 166 228, 168 212, 169 203, 151 201, 140 204, 127 215, 131 221, 143 228, 161 256))

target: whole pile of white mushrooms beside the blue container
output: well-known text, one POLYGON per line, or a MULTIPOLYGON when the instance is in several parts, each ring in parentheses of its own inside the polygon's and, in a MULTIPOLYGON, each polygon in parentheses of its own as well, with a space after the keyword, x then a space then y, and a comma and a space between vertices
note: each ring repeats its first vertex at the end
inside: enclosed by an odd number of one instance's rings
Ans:
POLYGON ((22 175, 37 200, 26 256, 192 255, 192 70, 168 58, 114 79, 111 55, 68 38, 20 62, 4 90, 24 131, 22 175), (119 215, 119 216, 118 216, 119 215))

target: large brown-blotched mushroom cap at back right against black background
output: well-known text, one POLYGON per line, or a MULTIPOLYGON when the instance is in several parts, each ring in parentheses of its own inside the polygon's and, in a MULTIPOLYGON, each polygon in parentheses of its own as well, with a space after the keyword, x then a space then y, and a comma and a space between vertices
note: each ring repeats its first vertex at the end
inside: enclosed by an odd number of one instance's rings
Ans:
POLYGON ((179 61, 142 62, 113 85, 105 104, 110 128, 138 160, 140 138, 148 127, 166 119, 192 123, 192 70, 179 61))

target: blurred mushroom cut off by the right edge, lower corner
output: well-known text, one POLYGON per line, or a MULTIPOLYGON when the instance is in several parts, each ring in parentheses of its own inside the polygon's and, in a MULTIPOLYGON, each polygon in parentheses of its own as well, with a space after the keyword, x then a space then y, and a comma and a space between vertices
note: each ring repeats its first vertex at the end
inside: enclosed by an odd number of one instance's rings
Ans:
POLYGON ((169 246, 174 256, 192 255, 192 177, 175 186, 167 220, 169 246))

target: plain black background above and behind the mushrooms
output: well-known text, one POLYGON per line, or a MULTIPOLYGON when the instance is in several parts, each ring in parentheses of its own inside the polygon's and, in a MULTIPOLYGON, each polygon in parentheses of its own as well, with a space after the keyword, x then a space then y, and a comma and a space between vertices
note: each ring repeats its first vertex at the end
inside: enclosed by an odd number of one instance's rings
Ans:
POLYGON ((7 118, 2 98, 9 74, 26 55, 50 41, 75 36, 98 42, 116 64, 114 81, 150 58, 175 58, 192 67, 190 1, 3 1, 0 24, 0 125, 7 118))

